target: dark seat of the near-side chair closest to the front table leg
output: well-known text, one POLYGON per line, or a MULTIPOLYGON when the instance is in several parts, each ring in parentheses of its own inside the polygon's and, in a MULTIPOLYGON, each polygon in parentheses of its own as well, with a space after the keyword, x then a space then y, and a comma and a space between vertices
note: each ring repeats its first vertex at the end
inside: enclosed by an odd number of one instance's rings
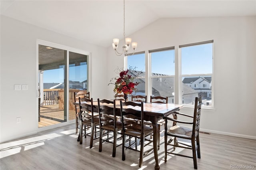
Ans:
MULTIPOLYGON (((130 136, 138 136, 138 137, 141 134, 141 126, 140 125, 128 126, 126 128, 127 129, 124 132, 124 134, 128 134, 130 136)), ((153 132, 153 128, 144 126, 144 134, 145 134, 145 136, 148 136, 152 132, 153 132)))

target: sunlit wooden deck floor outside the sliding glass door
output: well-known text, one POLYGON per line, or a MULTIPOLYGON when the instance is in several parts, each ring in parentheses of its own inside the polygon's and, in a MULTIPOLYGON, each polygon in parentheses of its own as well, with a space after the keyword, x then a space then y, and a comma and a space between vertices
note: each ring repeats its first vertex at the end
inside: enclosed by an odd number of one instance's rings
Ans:
MULTIPOLYGON (((75 119, 76 112, 69 111, 69 120, 75 119)), ((46 127, 64 122, 64 110, 59 105, 44 105, 40 107, 40 122, 38 127, 46 127)))

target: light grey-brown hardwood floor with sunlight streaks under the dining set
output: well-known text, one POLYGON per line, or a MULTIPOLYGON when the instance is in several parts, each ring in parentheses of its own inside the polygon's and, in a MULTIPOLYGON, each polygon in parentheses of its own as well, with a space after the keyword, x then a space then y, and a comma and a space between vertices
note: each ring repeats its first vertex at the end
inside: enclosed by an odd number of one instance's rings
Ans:
MULTIPOLYGON (((139 168, 139 152, 126 150, 122 161, 122 147, 116 149, 113 158, 112 144, 103 144, 98 152, 98 139, 89 148, 90 137, 80 145, 76 141, 75 125, 66 125, 38 134, 0 144, 1 170, 137 170, 154 169, 154 154, 144 156, 139 168)), ((164 144, 160 146, 158 158, 160 170, 193 170, 193 160, 181 156, 168 156, 164 163, 164 144)), ((201 159, 198 170, 228 170, 230 165, 254 166, 256 169, 256 140, 200 133, 201 159)), ((176 152, 192 155, 191 150, 176 152)))

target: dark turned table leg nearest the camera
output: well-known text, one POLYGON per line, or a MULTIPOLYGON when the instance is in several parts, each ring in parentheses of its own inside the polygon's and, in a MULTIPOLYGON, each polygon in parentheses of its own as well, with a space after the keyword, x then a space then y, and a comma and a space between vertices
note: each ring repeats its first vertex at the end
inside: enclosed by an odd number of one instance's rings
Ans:
POLYGON ((157 119, 156 117, 152 117, 152 126, 153 126, 153 148, 154 148, 154 157, 155 157, 155 170, 159 170, 159 164, 158 164, 158 149, 157 149, 157 142, 158 142, 158 125, 157 125, 157 119))

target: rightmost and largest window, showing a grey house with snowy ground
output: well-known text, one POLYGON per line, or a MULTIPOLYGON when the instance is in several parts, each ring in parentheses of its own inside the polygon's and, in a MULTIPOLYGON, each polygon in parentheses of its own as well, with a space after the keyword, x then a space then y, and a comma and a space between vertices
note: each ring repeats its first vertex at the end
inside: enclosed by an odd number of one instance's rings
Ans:
POLYGON ((180 45, 184 105, 194 105, 199 95, 205 105, 212 105, 212 46, 213 41, 180 45))

